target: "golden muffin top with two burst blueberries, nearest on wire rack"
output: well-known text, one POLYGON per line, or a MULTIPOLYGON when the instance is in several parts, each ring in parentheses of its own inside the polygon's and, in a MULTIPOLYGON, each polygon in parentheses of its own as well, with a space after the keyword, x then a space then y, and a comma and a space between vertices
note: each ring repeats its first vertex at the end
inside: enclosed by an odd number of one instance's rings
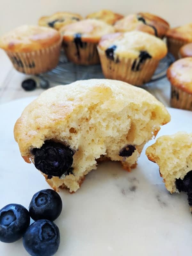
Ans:
POLYGON ((141 31, 103 36, 98 49, 105 51, 107 57, 109 59, 113 57, 113 60, 124 57, 138 58, 142 54, 148 58, 160 60, 167 54, 166 44, 161 39, 141 31))

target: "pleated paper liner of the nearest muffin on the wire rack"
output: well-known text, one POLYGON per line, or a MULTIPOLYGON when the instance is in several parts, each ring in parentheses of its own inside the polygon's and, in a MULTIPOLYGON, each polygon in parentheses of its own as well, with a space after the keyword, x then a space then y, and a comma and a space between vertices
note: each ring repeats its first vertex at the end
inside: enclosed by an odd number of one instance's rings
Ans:
POLYGON ((151 80, 159 60, 147 59, 139 63, 139 58, 121 58, 121 60, 110 60, 105 52, 98 48, 103 74, 108 79, 116 79, 129 84, 141 86, 151 80))

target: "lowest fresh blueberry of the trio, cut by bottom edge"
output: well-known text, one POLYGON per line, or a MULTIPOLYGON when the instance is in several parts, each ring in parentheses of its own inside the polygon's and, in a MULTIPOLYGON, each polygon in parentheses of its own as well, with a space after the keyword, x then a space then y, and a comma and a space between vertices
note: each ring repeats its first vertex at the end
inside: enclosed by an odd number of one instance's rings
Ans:
POLYGON ((32 256, 54 255, 59 244, 59 228, 50 220, 36 220, 23 236, 23 245, 32 256))

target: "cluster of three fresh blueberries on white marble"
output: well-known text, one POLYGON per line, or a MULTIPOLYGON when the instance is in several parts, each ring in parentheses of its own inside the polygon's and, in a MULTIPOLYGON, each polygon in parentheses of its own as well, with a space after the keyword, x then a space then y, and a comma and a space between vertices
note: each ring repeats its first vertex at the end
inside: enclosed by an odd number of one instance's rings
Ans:
POLYGON ((53 189, 37 192, 29 211, 20 204, 8 204, 0 210, 0 241, 12 243, 23 236, 23 245, 32 256, 51 256, 60 244, 59 228, 53 223, 62 210, 62 200, 53 189), (30 225, 30 217, 35 220, 30 225), (30 225, 30 226, 29 226, 30 225))

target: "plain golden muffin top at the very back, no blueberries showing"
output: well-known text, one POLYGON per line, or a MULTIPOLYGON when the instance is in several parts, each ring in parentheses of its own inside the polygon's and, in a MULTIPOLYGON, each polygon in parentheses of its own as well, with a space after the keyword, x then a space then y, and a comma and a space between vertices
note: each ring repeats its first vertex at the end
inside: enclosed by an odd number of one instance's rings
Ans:
POLYGON ((117 20, 122 19, 124 16, 110 10, 101 10, 87 15, 86 19, 103 20, 110 25, 114 25, 117 20))

